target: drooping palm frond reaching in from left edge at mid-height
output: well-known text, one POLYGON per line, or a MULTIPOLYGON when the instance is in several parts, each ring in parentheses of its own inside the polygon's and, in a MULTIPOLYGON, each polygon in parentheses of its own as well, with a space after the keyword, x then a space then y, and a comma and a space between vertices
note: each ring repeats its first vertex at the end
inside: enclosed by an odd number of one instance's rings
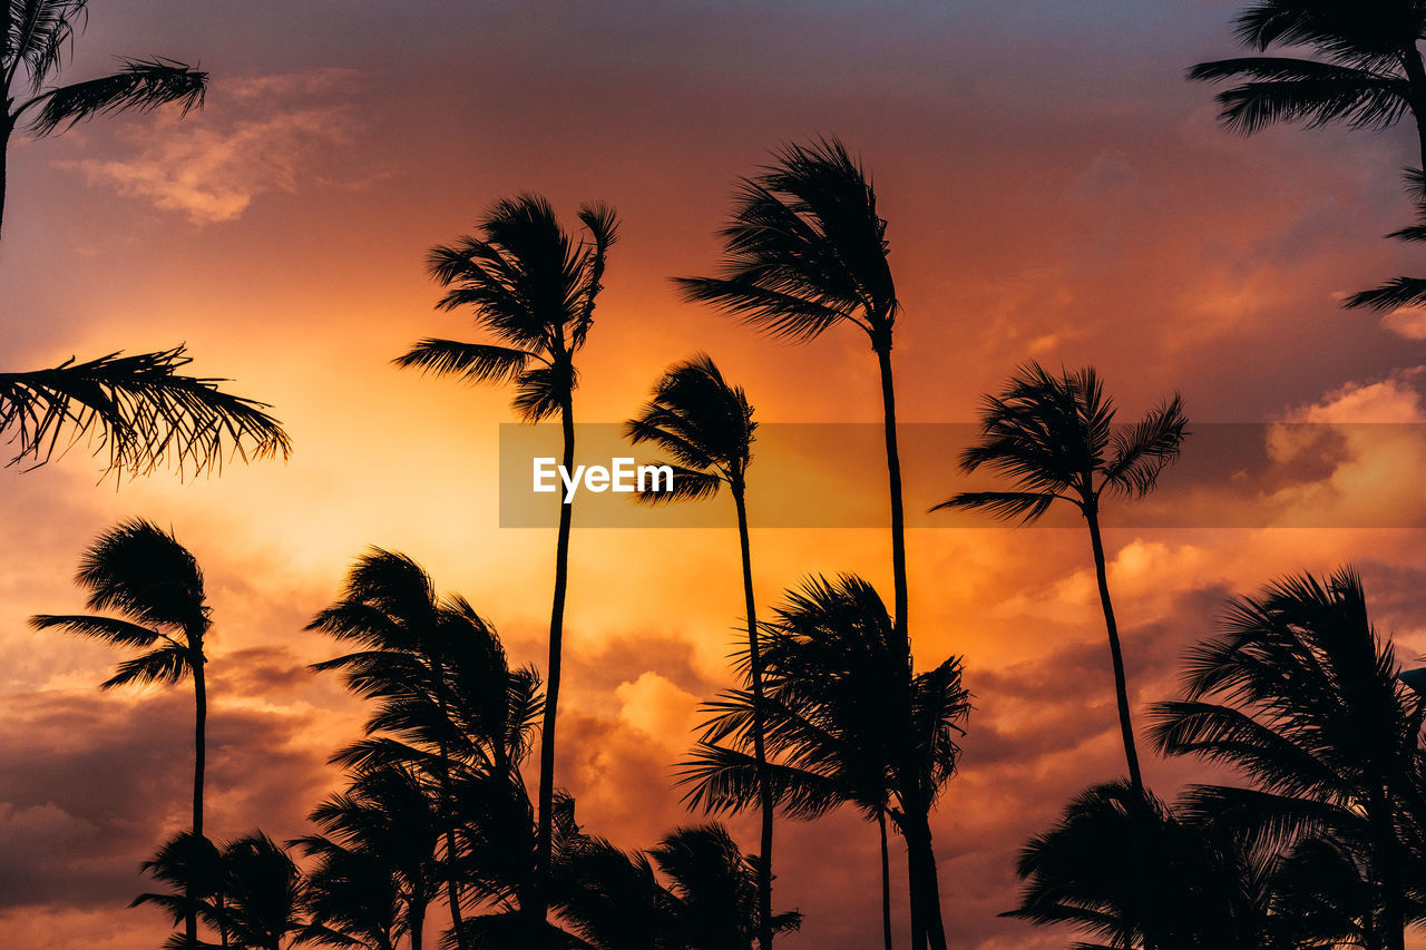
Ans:
POLYGON ((224 379, 180 375, 190 361, 174 347, 0 372, 0 435, 19 442, 10 464, 44 465, 81 438, 107 451, 108 471, 134 475, 168 462, 197 475, 221 469, 224 456, 291 454, 291 439, 265 404, 220 391, 224 379))

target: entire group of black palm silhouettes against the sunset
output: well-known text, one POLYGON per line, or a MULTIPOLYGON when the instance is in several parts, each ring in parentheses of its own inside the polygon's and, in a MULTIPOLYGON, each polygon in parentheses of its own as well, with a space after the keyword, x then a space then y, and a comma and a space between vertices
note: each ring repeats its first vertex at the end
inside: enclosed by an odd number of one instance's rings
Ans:
MULTIPOLYGON (((84 16, 84 0, 17 0, 0 13, 9 103, 0 210, 16 128, 43 137, 96 114, 202 103, 207 74, 161 58, 54 84, 84 16)), ((1239 17, 1239 39, 1259 53, 1281 44, 1316 58, 1222 60, 1191 77, 1242 80, 1219 98, 1224 121, 1246 133, 1276 121, 1387 127, 1410 116, 1426 161, 1423 31, 1426 4, 1415 0, 1369 13, 1261 0, 1239 17)), ((1420 173, 1413 180, 1423 181, 1420 173)), ((585 205, 578 218, 570 233, 545 198, 520 195, 492 205, 475 234, 434 248, 439 307, 469 308, 488 341, 428 338, 395 361, 513 384, 520 419, 559 422, 568 469, 576 358, 619 235, 606 205, 585 205)), ((411 558, 374 548, 309 625, 352 650, 312 669, 339 673, 371 703, 364 737, 331 759, 341 789, 311 812, 308 834, 279 843, 254 830, 214 843, 204 830, 211 616, 202 572, 173 533, 130 521, 84 556, 78 583, 91 613, 41 615, 33 625, 137 650, 104 688, 194 683, 191 823, 144 864, 168 890, 134 902, 181 927, 167 946, 421 950, 448 920, 439 943, 452 950, 771 950, 777 934, 800 926, 796 911, 773 907, 774 819, 813 820, 841 805, 878 829, 884 946, 894 946, 891 832, 906 847, 910 943, 948 946, 931 814, 957 773, 973 696, 961 658, 927 665, 913 650, 891 364, 901 305, 887 223, 860 160, 821 138, 784 145, 744 178, 720 235, 716 274, 679 278, 682 294, 787 339, 841 324, 867 334, 887 461, 891 609, 868 581, 840 575, 803 581, 760 616, 747 518, 757 422, 747 392, 699 354, 672 365, 626 424, 635 445, 657 449, 674 469, 672 491, 639 501, 702 501, 727 489, 733 502, 746 611, 740 682, 706 703, 679 782, 693 809, 756 810, 757 853, 743 853, 717 823, 674 829, 630 853, 575 822, 575 800, 556 782, 570 501, 559 509, 543 680, 511 666, 469 602, 439 595, 411 558)), ((1426 227, 1396 237, 1423 240, 1426 227)), ((1423 287, 1399 278, 1349 305, 1420 302, 1423 287)), ((180 347, 0 374, 0 434, 17 444, 16 462, 44 464, 88 439, 107 451, 110 471, 134 474, 288 454, 268 407, 224 394, 217 379, 180 375, 187 361, 180 347)), ((1233 766, 1251 785, 1195 786, 1168 805, 1144 782, 1099 518, 1107 499, 1152 491, 1185 435, 1176 395, 1125 425, 1094 369, 1025 364, 985 398, 980 438, 961 459, 965 472, 990 469, 1008 488, 960 492, 933 508, 1030 523, 1067 502, 1089 533, 1127 779, 1088 789, 1030 842, 1020 860, 1025 890, 1010 913, 1099 941, 1081 946, 1402 950, 1406 929, 1426 921, 1426 709, 1400 682, 1349 571, 1325 582, 1289 578, 1233 602, 1221 635, 1189 655, 1185 696, 1152 708, 1161 753, 1233 766)))

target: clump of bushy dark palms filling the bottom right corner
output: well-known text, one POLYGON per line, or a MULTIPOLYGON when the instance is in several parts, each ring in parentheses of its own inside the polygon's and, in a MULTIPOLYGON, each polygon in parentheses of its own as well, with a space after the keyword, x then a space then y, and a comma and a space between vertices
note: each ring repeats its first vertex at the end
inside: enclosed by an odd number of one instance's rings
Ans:
POLYGON ((1400 673, 1350 569, 1233 601, 1152 736, 1248 785, 1172 807, 1089 789, 1025 847, 1011 916, 1101 941, 1082 946, 1402 950, 1426 923, 1426 709, 1400 673))

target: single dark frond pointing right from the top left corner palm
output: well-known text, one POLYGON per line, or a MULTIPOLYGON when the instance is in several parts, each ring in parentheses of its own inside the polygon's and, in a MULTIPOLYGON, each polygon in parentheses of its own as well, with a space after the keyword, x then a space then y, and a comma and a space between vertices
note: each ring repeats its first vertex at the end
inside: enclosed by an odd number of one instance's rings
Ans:
POLYGON ((108 113, 147 113, 170 103, 181 107, 180 116, 202 108, 208 88, 207 73, 161 57, 123 60, 123 70, 113 76, 40 93, 16 113, 37 106, 39 113, 30 120, 30 131, 43 137, 108 113))

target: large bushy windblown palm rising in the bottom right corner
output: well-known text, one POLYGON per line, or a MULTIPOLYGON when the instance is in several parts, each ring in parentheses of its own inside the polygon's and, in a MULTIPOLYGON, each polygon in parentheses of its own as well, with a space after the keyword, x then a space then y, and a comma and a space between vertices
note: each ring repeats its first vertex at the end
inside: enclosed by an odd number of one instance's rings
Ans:
POLYGON ((1426 920, 1423 708, 1399 673, 1360 578, 1302 575, 1233 601, 1222 632, 1189 652, 1185 698, 1154 710, 1166 755, 1253 782, 1195 787, 1188 807, 1276 846, 1299 894, 1339 883, 1312 904, 1356 903, 1328 917, 1353 921, 1345 940, 1369 949, 1402 950, 1406 926, 1426 920))

